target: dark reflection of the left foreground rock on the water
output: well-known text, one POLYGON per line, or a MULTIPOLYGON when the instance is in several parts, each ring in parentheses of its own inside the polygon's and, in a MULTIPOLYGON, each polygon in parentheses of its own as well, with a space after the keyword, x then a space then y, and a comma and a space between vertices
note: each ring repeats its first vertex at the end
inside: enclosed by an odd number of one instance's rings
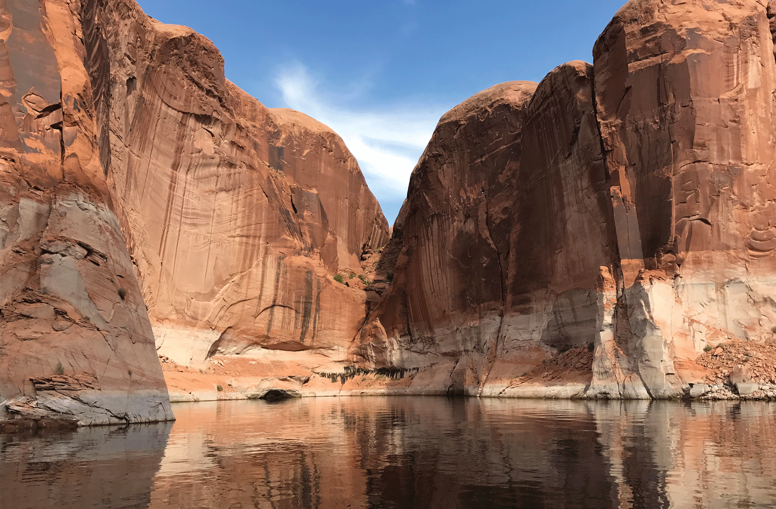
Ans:
POLYGON ((0 507, 148 507, 171 428, 0 435, 0 507))

